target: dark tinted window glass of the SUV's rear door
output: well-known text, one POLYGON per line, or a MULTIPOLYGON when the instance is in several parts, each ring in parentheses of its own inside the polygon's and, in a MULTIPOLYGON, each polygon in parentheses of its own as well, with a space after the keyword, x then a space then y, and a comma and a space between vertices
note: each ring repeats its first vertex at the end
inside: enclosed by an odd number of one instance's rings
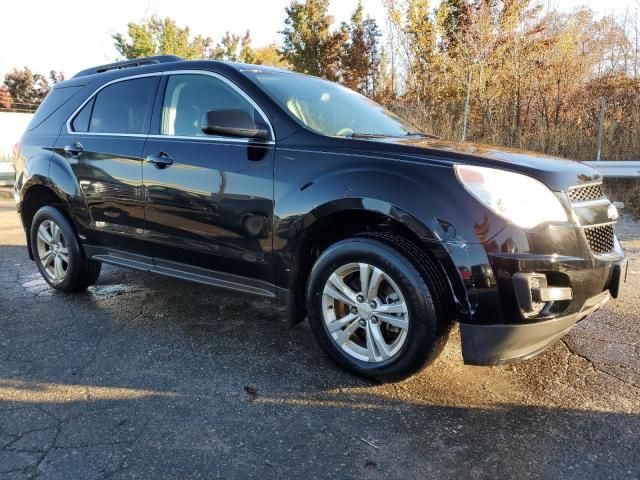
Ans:
POLYGON ((73 131, 146 133, 157 83, 158 77, 144 77, 103 88, 74 117, 73 131))

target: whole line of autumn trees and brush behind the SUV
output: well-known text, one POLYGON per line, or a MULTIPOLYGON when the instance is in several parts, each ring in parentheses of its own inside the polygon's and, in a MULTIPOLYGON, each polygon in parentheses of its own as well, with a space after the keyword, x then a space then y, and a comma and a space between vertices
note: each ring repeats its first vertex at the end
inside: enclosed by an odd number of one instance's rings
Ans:
MULTIPOLYGON (((603 158, 640 160, 637 9, 598 17, 532 0, 383 1, 386 18, 360 5, 341 24, 329 0, 292 1, 281 43, 259 48, 249 31, 216 42, 157 17, 113 40, 123 58, 223 59, 338 81, 444 138, 462 138, 468 103, 467 139, 578 160, 595 159, 604 99, 603 158)), ((33 110, 62 78, 15 70, 0 109, 33 110)))

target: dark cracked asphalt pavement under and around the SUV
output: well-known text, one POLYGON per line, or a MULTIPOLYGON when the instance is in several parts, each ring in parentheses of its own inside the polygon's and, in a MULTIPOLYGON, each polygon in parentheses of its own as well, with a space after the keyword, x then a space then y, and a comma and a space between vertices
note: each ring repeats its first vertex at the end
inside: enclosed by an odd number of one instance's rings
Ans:
POLYGON ((376 385, 281 307, 105 267, 51 290, 0 202, 0 479, 639 478, 640 241, 622 300, 537 358, 376 385))

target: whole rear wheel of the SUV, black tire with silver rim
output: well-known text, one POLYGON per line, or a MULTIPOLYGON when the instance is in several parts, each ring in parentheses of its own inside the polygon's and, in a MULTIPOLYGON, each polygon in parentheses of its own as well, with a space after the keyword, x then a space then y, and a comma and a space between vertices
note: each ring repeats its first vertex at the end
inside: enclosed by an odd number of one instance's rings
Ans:
POLYGON ((51 287, 75 293, 96 283, 101 263, 85 256, 75 229, 60 210, 52 206, 38 210, 30 235, 38 270, 51 287))

